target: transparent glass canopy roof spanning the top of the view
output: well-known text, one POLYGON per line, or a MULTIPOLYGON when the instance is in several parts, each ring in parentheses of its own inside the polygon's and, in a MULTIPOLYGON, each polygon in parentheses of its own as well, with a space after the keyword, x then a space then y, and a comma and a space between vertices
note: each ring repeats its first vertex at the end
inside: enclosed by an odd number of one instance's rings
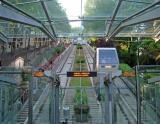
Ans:
MULTIPOLYGON (((121 24, 126 22, 128 17, 153 5, 144 11, 149 13, 150 10, 159 8, 159 4, 158 0, 6 0, 1 2, 2 6, 16 13, 33 17, 32 19, 42 24, 45 33, 48 32, 49 35, 56 37, 110 37, 118 28, 121 29, 121 24), (153 5, 154 3, 156 4, 153 5)), ((144 27, 142 30, 145 36, 154 36, 154 25, 157 20, 159 18, 138 25, 126 25, 113 36, 125 37, 136 34, 139 30, 136 28, 138 26, 144 27)), ((24 23, 4 19, 0 20, 0 32, 6 37, 21 37, 25 32, 31 32, 33 36, 45 35, 38 26, 27 26, 24 23)))

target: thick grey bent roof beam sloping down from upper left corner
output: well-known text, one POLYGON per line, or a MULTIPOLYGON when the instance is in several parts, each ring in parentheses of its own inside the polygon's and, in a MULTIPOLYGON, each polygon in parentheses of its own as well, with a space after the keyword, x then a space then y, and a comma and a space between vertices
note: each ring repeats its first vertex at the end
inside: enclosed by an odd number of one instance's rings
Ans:
POLYGON ((11 7, 13 10, 8 9, 2 4, 0 5, 0 9, 3 9, 3 11, 0 11, 0 18, 3 20, 13 21, 16 23, 26 24, 33 27, 39 28, 42 32, 44 32, 48 37, 50 37, 52 40, 55 39, 55 37, 50 33, 50 31, 47 29, 47 27, 38 19, 32 17, 31 15, 25 13, 24 11, 20 10, 19 8, 11 5, 10 3, 1 0, 1 2, 4 5, 7 5, 11 7), (1 8, 2 7, 2 8, 1 8), (4 13, 6 12, 6 13, 4 13))

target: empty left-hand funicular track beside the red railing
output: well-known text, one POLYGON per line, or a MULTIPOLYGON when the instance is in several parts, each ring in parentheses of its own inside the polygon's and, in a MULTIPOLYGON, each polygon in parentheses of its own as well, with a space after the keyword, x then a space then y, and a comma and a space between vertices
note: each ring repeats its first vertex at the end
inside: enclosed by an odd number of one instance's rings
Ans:
MULTIPOLYGON (((73 50, 74 50, 74 47, 71 45, 60 56, 58 56, 53 62, 52 70, 57 71, 57 72, 62 71, 62 68, 64 68, 64 65, 66 64, 68 56, 73 50)), ((48 103, 49 102, 48 100, 49 99, 48 97, 49 89, 50 89, 50 84, 47 84, 46 87, 39 92, 38 97, 33 96, 32 103, 33 103, 33 115, 34 115, 33 121, 34 123, 36 123, 39 117, 43 114, 43 107, 49 105, 48 103)), ((17 124, 27 124, 28 123, 28 109, 29 108, 28 108, 28 101, 27 101, 19 113, 17 124)))

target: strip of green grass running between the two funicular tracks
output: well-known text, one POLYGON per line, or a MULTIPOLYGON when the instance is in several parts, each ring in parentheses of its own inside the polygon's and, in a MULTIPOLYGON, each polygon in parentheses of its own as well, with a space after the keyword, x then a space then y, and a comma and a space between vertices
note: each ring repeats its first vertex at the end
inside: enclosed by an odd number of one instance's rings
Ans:
MULTIPOLYGON (((76 57, 74 60, 73 71, 80 71, 80 63, 79 60, 85 60, 83 49, 76 50, 76 57)), ((86 62, 81 64, 82 71, 88 71, 86 62)), ((70 86, 80 86, 80 77, 72 77, 70 80, 70 86)), ((91 81, 89 77, 81 77, 81 86, 91 86, 91 81)))

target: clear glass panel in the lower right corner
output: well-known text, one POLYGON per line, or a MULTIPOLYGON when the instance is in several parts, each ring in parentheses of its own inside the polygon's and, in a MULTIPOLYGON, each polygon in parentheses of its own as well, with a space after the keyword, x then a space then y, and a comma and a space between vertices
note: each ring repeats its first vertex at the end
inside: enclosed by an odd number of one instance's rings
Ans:
POLYGON ((139 69, 140 85, 141 85, 141 120, 145 123, 156 124, 160 120, 159 113, 159 77, 160 66, 141 66, 139 69), (148 73, 141 73, 141 71, 148 73), (143 75, 143 76, 142 76, 143 75))

